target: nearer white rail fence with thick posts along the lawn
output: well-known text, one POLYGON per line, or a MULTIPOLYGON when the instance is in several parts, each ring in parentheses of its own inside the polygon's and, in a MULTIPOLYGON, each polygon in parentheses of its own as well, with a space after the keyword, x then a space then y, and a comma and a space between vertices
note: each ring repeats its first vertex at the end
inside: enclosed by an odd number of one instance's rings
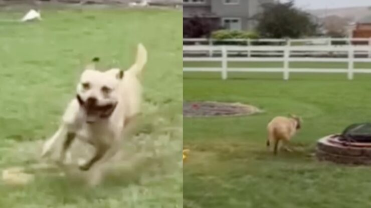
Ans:
POLYGON ((354 62, 371 63, 369 57, 357 57, 357 54, 370 53, 371 47, 364 45, 304 45, 304 46, 209 46, 209 45, 184 45, 183 46, 183 62, 219 62, 220 67, 183 67, 183 71, 204 71, 204 72, 220 72, 223 79, 228 78, 228 72, 282 72, 283 79, 289 79, 292 72, 307 72, 307 73, 346 73, 348 79, 353 79, 354 73, 371 73, 369 68, 354 68, 354 62), (221 54, 220 56, 197 56, 192 57, 192 54, 204 53, 209 51, 212 54, 221 54), (237 53, 261 52, 262 56, 236 56, 237 53), (269 54, 274 53, 278 57, 270 57, 269 54), (321 54, 320 57, 298 57, 300 54, 310 53, 321 54), (187 56, 187 54, 191 54, 187 56), (331 54, 328 57, 323 57, 323 54, 331 54), (336 57, 333 56, 336 54, 336 57), (254 68, 254 67, 231 67, 230 62, 282 62, 281 68, 254 68), (290 62, 345 62, 347 68, 291 68, 290 62))

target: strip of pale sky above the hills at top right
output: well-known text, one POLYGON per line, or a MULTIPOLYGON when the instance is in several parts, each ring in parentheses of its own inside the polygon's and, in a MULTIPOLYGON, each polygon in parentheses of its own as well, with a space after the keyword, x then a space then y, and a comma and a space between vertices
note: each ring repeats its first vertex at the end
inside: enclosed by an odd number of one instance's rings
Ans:
MULTIPOLYGON (((288 0, 281 0, 281 2, 285 1, 288 0)), ((294 2, 297 6, 305 9, 371 6, 371 0, 294 0, 294 2)))

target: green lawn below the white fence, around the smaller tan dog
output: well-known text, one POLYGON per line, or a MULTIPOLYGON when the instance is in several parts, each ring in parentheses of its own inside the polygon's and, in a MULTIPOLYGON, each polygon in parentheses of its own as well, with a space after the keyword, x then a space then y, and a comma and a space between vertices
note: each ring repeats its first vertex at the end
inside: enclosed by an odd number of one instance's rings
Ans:
POLYGON ((371 76, 356 74, 184 73, 184 100, 243 102, 265 112, 245 117, 184 118, 183 169, 187 208, 347 208, 371 205, 369 167, 319 162, 316 140, 371 120, 371 76), (295 152, 268 152, 266 125, 296 113, 303 129, 295 152))

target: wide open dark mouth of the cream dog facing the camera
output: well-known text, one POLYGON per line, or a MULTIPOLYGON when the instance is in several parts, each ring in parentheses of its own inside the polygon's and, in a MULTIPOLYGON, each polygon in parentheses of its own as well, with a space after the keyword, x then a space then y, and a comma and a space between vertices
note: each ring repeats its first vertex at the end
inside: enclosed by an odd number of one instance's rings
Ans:
POLYGON ((94 123, 98 119, 108 118, 115 110, 117 103, 109 103, 106 105, 97 105, 84 102, 80 96, 77 96, 80 105, 85 109, 86 122, 94 123))

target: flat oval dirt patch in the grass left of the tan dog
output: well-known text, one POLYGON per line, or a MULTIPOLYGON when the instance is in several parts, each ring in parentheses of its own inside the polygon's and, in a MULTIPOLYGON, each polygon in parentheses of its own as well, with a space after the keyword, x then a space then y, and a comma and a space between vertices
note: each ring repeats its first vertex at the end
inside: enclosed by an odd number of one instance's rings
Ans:
POLYGON ((259 112, 262 112, 262 110, 242 103, 215 101, 183 102, 183 116, 186 117, 241 116, 259 112))

